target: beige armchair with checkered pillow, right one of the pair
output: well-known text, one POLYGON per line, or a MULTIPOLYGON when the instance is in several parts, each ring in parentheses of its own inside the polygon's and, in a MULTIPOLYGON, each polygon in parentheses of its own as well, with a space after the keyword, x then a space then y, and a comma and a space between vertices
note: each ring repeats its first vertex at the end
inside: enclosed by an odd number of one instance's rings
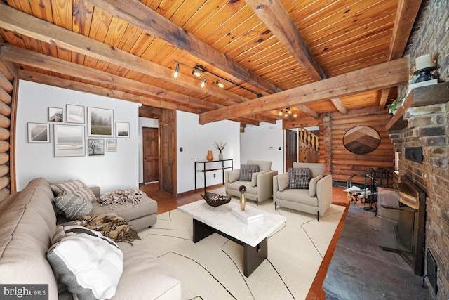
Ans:
POLYGON ((273 177, 274 209, 277 206, 320 216, 332 203, 332 176, 324 164, 293 162, 288 173, 273 177))

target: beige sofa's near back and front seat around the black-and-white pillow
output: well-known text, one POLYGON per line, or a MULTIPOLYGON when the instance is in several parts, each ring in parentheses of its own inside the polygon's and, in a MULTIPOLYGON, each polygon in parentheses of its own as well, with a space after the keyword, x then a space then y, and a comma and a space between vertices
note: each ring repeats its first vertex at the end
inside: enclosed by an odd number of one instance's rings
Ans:
MULTIPOLYGON (((54 196, 44 178, 0 202, 0 282, 48 285, 48 299, 73 299, 47 259, 57 231, 54 196)), ((123 273, 112 299, 181 299, 181 283, 140 242, 118 242, 123 273)))

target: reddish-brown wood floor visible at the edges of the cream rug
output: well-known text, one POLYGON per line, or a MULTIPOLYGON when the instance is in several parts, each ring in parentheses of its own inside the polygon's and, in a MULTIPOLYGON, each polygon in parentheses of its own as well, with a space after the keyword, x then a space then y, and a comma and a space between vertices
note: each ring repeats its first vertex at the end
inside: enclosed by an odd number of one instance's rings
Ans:
MULTIPOLYGON (((194 192, 184 193, 181 196, 173 197, 170 193, 163 190, 159 190, 159 183, 140 185, 139 188, 140 190, 143 190, 145 193, 147 193, 148 197, 157 201, 157 214, 162 214, 166 211, 177 209, 178 206, 194 202, 197 200, 201 200, 202 199, 201 193, 203 193, 203 190, 201 189, 197 190, 197 193, 194 192)), ((208 191, 213 192, 214 190, 222 188, 223 188, 222 185, 216 185, 215 187, 208 187, 208 191)), ((344 205, 348 209, 349 202, 346 193, 343 192, 343 189, 344 188, 333 187, 332 203, 337 205, 344 205)), ((326 277, 326 273, 328 271, 330 260, 332 259, 333 256, 335 246, 337 245, 338 237, 340 236, 340 232, 342 231, 343 228, 344 219, 346 218, 347 215, 347 209, 345 209, 344 214, 342 216, 342 220, 340 221, 337 230, 335 230, 333 240, 330 242, 328 252, 326 252, 326 255, 323 257, 323 262, 321 263, 319 271, 316 274, 316 278, 311 286, 311 289, 309 290, 307 299, 310 300, 326 299, 326 294, 323 292, 323 282, 324 278, 326 277)))

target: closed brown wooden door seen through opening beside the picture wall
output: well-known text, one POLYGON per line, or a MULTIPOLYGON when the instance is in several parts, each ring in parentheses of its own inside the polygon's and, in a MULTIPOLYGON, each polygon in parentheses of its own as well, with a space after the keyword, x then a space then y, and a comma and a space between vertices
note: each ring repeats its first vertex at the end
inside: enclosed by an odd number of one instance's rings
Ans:
POLYGON ((143 182, 159 181, 159 129, 143 128, 143 182))

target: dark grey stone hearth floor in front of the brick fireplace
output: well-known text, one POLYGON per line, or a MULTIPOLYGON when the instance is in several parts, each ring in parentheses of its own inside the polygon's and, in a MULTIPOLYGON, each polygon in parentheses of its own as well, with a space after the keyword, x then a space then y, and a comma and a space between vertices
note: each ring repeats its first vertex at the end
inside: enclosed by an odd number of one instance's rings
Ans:
POLYGON ((328 300, 431 299, 403 258, 380 249, 382 219, 351 204, 323 282, 328 300))

